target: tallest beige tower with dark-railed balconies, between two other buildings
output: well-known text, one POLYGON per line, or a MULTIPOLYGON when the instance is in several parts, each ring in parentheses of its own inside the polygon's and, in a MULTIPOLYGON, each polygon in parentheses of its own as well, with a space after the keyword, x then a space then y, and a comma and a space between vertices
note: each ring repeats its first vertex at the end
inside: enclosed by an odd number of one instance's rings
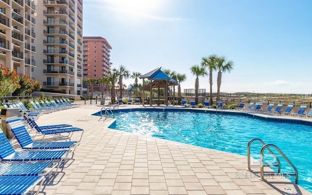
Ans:
POLYGON ((37 0, 36 68, 42 88, 82 95, 82 0, 37 0))

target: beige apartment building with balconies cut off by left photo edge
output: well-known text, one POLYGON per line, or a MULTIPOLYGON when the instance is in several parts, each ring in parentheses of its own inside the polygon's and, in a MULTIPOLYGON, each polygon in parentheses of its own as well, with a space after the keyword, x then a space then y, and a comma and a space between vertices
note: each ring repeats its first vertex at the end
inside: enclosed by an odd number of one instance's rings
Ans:
POLYGON ((34 14, 31 0, 0 0, 0 64, 29 77, 36 66, 34 14))

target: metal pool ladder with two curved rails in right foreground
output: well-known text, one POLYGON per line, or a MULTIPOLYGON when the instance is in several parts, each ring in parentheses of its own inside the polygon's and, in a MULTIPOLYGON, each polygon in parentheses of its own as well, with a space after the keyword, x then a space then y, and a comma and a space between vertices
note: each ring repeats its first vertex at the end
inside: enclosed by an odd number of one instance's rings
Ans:
MULTIPOLYGON (((297 171, 297 168, 292 164, 292 162, 288 159, 288 157, 285 156, 285 154, 274 144, 265 144, 261 139, 259 138, 254 138, 254 139, 251 139, 249 142, 248 142, 248 145, 247 145, 247 160, 248 160, 248 168, 247 170, 248 171, 253 171, 251 169, 251 159, 250 159, 250 145, 252 144, 252 142, 254 141, 259 141, 261 144, 262 144, 262 148, 260 150, 260 166, 257 166, 257 167, 260 167, 260 180, 263 180, 265 181, 266 179, 264 178, 264 167, 277 167, 277 173, 281 173, 281 164, 280 164, 280 161, 279 159, 277 158, 276 155, 274 155, 274 153, 270 150, 269 147, 273 147, 276 149, 276 151, 288 162, 289 165, 291 165, 294 173, 286 173, 285 175, 286 176, 294 176, 295 177, 295 183, 298 184, 298 171, 297 171), (276 164, 264 164, 264 159, 263 159, 263 153, 264 153, 264 150, 267 149, 267 151, 273 156, 273 158, 276 160, 276 164)), ((256 166, 254 166, 256 167, 256 166)))

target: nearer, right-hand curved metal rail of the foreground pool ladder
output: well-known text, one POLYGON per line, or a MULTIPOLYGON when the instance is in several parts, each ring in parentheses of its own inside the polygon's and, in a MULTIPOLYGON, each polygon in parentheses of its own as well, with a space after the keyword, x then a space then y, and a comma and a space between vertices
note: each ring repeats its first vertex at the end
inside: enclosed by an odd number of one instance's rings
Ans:
MULTIPOLYGON (((294 171, 294 174, 289 174, 287 173, 288 176, 294 176, 295 177, 295 183, 298 184, 298 171, 297 168, 292 164, 292 162, 288 159, 288 157, 285 156, 285 154, 274 144, 266 144, 261 148, 260 151, 260 178, 261 180, 266 180, 264 178, 264 173, 263 173, 263 152, 265 149, 269 148, 270 146, 272 146, 273 148, 275 148, 277 150, 277 152, 283 156, 283 158, 288 162, 289 165, 292 166, 292 169, 294 171)), ((269 150, 269 149, 268 149, 269 150)))

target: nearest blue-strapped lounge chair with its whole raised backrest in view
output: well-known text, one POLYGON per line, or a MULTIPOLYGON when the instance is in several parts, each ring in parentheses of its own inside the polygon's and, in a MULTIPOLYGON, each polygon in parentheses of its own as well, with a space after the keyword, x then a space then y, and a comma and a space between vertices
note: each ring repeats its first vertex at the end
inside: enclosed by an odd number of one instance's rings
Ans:
POLYGON ((67 149, 67 156, 69 156, 78 145, 76 141, 33 141, 19 117, 7 118, 6 123, 19 142, 20 147, 25 150, 67 149))

